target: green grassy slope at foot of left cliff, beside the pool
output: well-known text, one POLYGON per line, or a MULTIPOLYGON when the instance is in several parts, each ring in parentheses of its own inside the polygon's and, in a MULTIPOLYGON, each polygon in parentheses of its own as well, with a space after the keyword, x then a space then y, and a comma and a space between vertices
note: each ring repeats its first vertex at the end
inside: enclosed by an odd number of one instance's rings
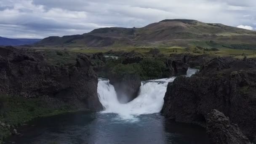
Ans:
MULTIPOLYGON (((22 125, 38 117, 49 117, 80 110, 70 105, 52 107, 42 98, 25 99, 22 97, 0 95, 0 140, 20 134, 17 131, 22 125)), ((1 143, 0 143, 1 144, 1 143)))

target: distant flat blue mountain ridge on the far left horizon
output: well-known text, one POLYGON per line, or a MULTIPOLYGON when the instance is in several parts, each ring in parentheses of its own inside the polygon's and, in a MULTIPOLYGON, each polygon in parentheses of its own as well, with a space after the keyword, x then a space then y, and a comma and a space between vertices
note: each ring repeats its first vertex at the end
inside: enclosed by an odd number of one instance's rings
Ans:
POLYGON ((36 42, 39 42, 42 39, 27 39, 27 38, 19 38, 19 39, 13 39, 13 38, 6 38, 6 37, 0 37, 0 45, 31 45, 36 42))

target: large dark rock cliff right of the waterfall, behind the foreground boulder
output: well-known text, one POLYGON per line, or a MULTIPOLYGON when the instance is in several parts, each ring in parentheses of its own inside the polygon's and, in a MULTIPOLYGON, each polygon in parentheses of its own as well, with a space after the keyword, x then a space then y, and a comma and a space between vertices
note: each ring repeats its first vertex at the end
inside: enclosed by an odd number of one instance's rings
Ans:
POLYGON ((256 62, 216 58, 192 77, 168 84, 162 114, 177 122, 206 126, 206 117, 218 109, 241 131, 256 136, 256 62), (236 71, 233 71, 236 70, 236 71))

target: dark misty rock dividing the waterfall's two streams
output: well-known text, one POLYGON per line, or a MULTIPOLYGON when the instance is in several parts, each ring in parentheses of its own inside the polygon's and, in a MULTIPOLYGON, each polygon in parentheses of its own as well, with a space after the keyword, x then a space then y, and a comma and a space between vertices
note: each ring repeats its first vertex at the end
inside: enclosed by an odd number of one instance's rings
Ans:
POLYGON ((139 75, 127 74, 122 77, 112 74, 109 83, 114 85, 117 98, 121 103, 128 103, 138 96, 141 86, 139 75))

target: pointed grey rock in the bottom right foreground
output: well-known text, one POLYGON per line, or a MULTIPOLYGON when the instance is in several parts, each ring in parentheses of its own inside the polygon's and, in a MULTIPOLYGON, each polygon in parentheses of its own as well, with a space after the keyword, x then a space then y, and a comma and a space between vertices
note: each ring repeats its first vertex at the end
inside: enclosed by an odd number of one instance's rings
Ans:
POLYGON ((222 112, 213 109, 206 118, 206 133, 211 144, 251 144, 236 124, 222 112))

